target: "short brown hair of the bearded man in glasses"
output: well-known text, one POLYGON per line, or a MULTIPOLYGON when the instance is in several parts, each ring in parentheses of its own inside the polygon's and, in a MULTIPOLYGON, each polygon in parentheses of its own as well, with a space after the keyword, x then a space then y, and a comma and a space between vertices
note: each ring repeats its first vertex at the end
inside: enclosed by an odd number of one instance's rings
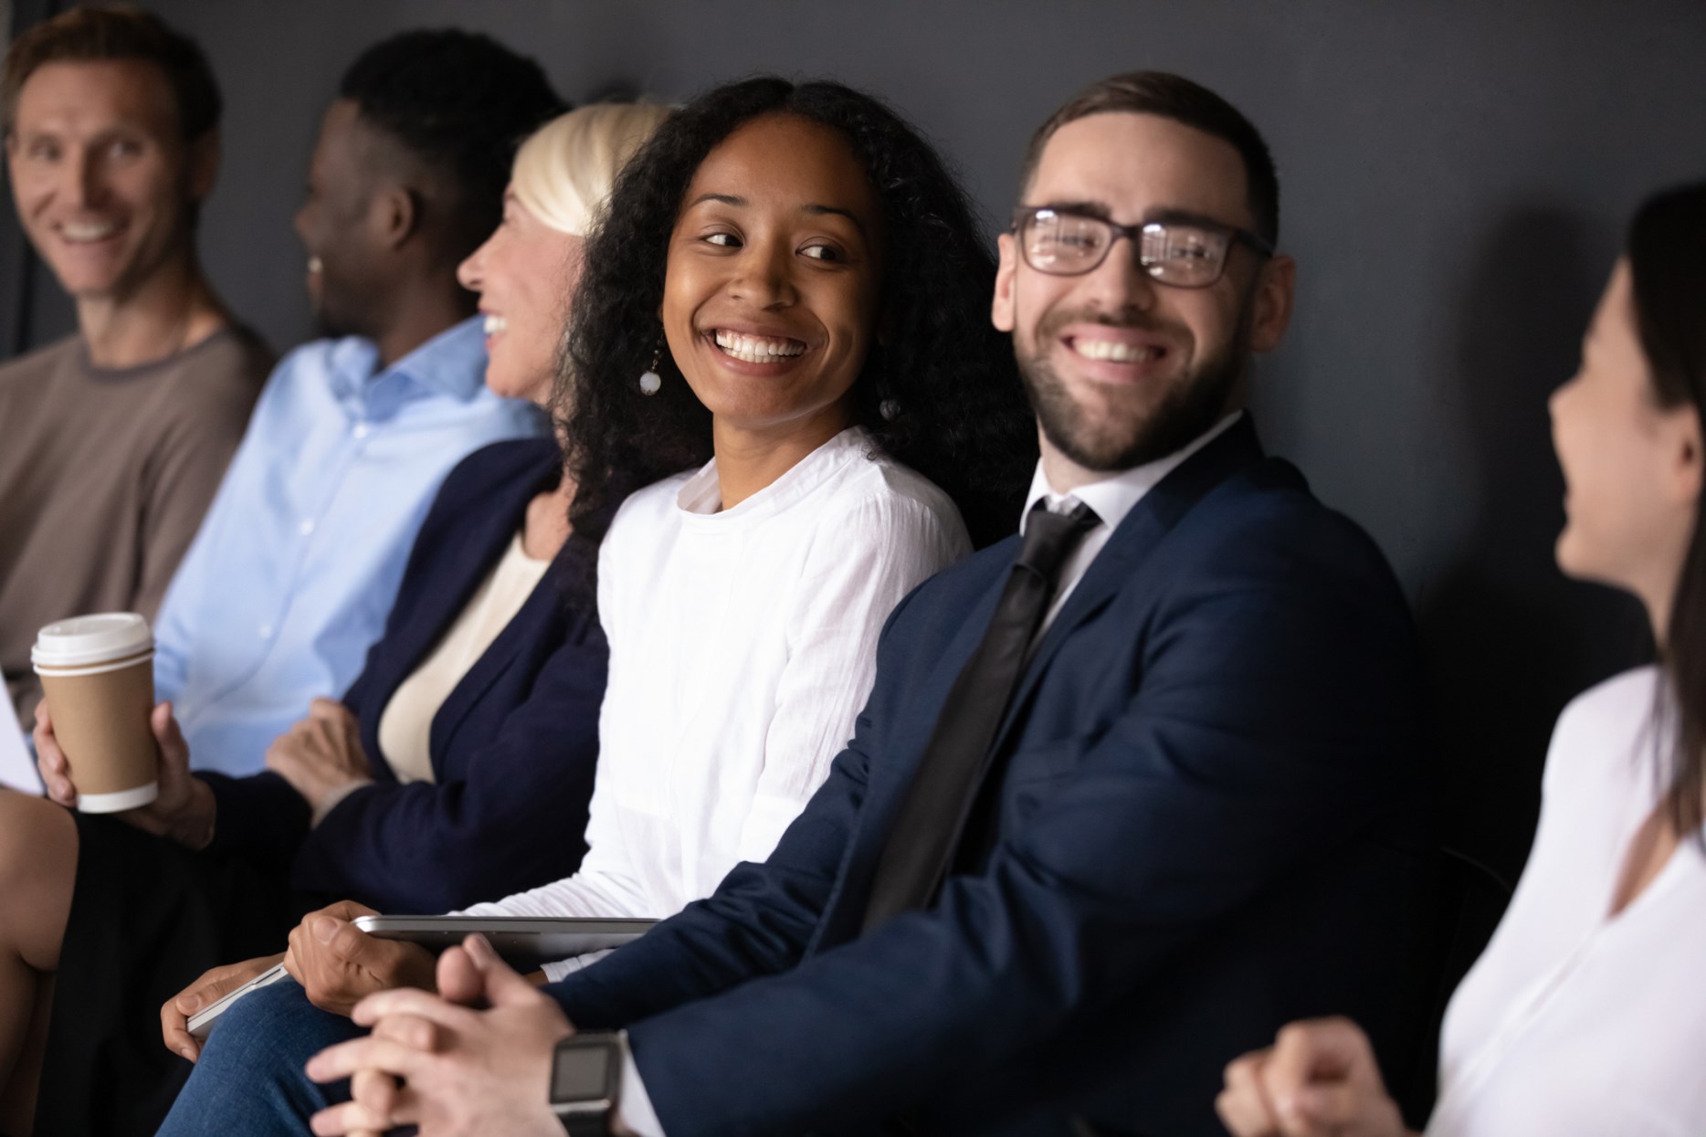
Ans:
POLYGON ((1167 72, 1126 72, 1090 84, 1066 106, 1054 111, 1025 149, 1025 166, 1018 179, 1020 193, 1030 188, 1042 159, 1042 147, 1066 123, 1092 114, 1157 114, 1184 123, 1204 135, 1232 143, 1244 159, 1244 193, 1256 217, 1256 232, 1276 244, 1280 241, 1280 174, 1268 143, 1239 108, 1218 94, 1182 75, 1167 72))

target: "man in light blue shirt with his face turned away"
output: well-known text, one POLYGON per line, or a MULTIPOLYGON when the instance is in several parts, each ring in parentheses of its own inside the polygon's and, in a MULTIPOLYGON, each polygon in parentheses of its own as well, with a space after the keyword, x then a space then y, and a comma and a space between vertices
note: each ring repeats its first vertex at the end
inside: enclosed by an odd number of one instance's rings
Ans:
POLYGON ((295 219, 339 338, 273 372, 155 627, 155 693, 196 768, 259 770, 341 695, 444 476, 548 427, 485 388, 456 266, 498 222, 514 140, 560 109, 536 63, 457 31, 396 36, 345 75, 295 219))

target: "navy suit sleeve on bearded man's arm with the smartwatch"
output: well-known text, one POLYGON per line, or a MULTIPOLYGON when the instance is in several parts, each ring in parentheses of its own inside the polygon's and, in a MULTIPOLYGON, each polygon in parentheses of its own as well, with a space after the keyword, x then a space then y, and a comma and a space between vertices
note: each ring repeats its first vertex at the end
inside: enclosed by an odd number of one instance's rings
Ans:
MULTIPOLYGON (((914 1106, 945 1064, 1015 1060, 1141 992, 1377 823, 1390 758, 1418 729, 1411 628, 1373 550, 1320 517, 1245 524, 1175 574, 1123 714, 1051 746, 1058 785, 1037 787, 981 874, 786 973, 630 1024, 670 1137, 839 1128, 914 1106)), ((790 852, 856 825, 865 767, 844 756, 836 799, 805 814, 824 831, 790 833, 790 852)), ((797 876, 785 860, 746 891, 786 895, 797 876)))

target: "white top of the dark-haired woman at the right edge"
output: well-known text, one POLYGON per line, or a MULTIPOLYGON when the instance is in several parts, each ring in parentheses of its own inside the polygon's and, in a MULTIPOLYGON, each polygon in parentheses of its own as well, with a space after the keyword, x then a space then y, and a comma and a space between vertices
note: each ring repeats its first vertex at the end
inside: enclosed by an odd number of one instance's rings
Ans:
POLYGON ((1706 857, 1694 837, 1609 917, 1660 799, 1658 673, 1558 719, 1529 867, 1445 1016, 1428 1137, 1706 1132, 1706 857))

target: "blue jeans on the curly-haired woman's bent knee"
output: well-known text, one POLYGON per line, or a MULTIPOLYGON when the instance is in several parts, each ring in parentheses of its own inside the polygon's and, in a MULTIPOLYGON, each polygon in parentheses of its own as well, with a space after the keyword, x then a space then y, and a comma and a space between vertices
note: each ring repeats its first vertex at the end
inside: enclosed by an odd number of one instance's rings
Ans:
POLYGON ((350 1099, 348 1081, 321 1086, 302 1067, 362 1033, 288 978, 244 995, 220 1016, 157 1137, 302 1137, 314 1113, 350 1099))

